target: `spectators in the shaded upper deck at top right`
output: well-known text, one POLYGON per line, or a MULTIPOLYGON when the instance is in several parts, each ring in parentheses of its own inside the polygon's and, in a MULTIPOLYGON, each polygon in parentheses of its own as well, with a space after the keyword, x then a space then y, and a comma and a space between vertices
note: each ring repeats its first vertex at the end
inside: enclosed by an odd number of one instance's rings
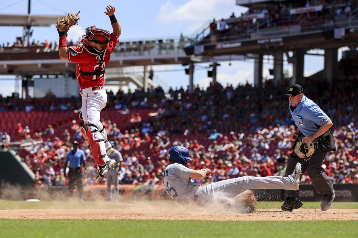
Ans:
POLYGON ((232 13, 227 19, 213 19, 209 25, 210 35, 205 37, 204 41, 222 41, 228 40, 230 37, 246 38, 251 30, 257 30, 254 25, 258 22, 260 29, 287 25, 301 25, 302 31, 311 27, 317 29, 320 27, 319 25, 325 21, 333 20, 335 17, 351 16, 357 7, 358 2, 355 0, 311 0, 250 8, 240 16, 235 16, 232 13), (318 5, 322 5, 321 10, 290 14, 290 10, 293 9, 318 5))

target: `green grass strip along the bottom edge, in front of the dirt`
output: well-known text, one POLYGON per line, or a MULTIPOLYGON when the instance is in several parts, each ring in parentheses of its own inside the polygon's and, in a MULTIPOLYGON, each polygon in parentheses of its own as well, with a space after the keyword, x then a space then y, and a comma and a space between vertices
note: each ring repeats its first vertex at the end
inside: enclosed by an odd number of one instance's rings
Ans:
POLYGON ((0 237, 357 237, 358 221, 0 219, 0 237))

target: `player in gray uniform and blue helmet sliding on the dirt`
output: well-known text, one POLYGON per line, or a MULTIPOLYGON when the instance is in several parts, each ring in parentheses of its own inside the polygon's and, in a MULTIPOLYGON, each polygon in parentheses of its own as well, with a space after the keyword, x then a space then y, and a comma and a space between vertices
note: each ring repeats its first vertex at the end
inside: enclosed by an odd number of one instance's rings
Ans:
MULTIPOLYGON (((198 205, 213 203, 215 196, 234 198, 248 189, 290 189, 300 187, 301 164, 297 163, 292 174, 287 177, 252 177, 243 176, 222 180, 207 186, 194 183, 193 179, 203 179, 211 175, 208 168, 189 169, 185 167, 190 158, 190 152, 183 146, 174 146, 168 152, 169 164, 164 169, 163 186, 168 195, 177 202, 194 201, 198 205)), ((252 209, 246 209, 252 212, 252 209)))

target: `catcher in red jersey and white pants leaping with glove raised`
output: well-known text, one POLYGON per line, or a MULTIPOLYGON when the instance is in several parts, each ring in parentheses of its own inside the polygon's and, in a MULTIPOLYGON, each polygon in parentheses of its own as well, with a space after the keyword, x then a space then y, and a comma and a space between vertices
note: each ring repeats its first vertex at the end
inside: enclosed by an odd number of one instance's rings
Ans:
POLYGON ((97 182, 101 181, 117 163, 108 157, 115 150, 107 139, 105 127, 100 122, 100 112, 107 102, 107 93, 103 88, 105 68, 121 35, 121 26, 114 15, 115 10, 115 7, 109 5, 105 11, 112 24, 111 34, 95 25, 89 26, 77 46, 67 47, 66 42, 69 28, 78 24, 79 12, 58 19, 56 24, 60 37, 58 46, 60 59, 76 63, 76 78, 82 96, 81 118, 84 121, 82 135, 89 142, 97 166, 97 182))

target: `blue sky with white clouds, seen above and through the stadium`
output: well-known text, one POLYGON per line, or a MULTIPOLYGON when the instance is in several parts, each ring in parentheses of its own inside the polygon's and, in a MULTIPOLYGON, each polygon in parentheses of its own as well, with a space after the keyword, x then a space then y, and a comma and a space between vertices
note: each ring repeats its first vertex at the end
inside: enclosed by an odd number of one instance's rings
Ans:
MULTIPOLYGON (((8 0, 3 2, 0 7, 0 14, 26 14, 27 0, 8 0), (12 5, 4 9, 8 5, 12 5), (4 10, 1 10, 4 9, 4 10)), ((31 13, 58 15, 63 16, 65 13, 80 13, 80 24, 73 26, 69 31, 68 39, 77 41, 82 35, 83 30, 90 25, 96 25, 99 28, 111 29, 108 16, 104 14, 106 5, 116 7, 116 18, 121 24, 122 35, 120 40, 128 39, 145 39, 153 37, 173 37, 183 33, 190 36, 195 30, 199 29, 205 22, 216 18, 229 17, 232 12, 240 15, 245 12, 246 8, 235 5, 235 0, 131 0, 131 1, 75 1, 71 4, 69 1, 59 2, 55 0, 32 0, 31 13)), ((2 27, 1 32, 6 32, 0 37, 0 43, 13 42, 16 36, 22 36, 22 27, 2 27)), ((51 27, 34 27, 33 38, 35 40, 57 41, 58 34, 55 26, 51 27)), ((264 60, 263 76, 269 76, 269 69, 272 69, 272 60, 264 60)), ((323 57, 306 56, 305 57, 305 76, 310 75, 318 70, 323 69, 323 57)), ((200 64, 200 67, 208 64, 200 64)), ((169 84, 176 86, 188 85, 188 75, 184 73, 184 67, 181 65, 174 66, 157 66, 155 70, 173 70, 183 69, 179 72, 161 72, 158 73, 169 84)), ((284 66, 284 69, 292 71, 292 66, 284 66)), ((218 81, 226 85, 227 82, 236 86, 239 82, 244 83, 246 80, 253 81, 253 62, 252 61, 234 61, 229 66, 228 62, 222 62, 218 67, 218 81)), ((206 70, 197 70, 194 73, 194 83, 200 87, 207 87, 211 79, 207 78, 206 70)), ((14 91, 14 81, 0 81, 2 87, 0 93, 3 96, 11 95, 14 91)))

